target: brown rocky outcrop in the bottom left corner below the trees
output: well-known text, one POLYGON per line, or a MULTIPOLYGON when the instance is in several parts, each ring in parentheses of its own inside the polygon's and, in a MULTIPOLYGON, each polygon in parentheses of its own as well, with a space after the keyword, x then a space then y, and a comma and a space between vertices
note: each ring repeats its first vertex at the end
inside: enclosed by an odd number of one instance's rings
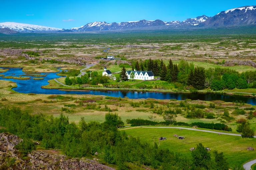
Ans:
POLYGON ((115 168, 102 165, 95 160, 86 158, 68 159, 57 150, 36 150, 29 153, 26 160, 23 160, 17 149, 14 147, 22 141, 16 135, 9 133, 0 133, 0 169, 13 169, 9 167, 7 158, 15 158, 13 167, 18 170, 115 170, 115 168))

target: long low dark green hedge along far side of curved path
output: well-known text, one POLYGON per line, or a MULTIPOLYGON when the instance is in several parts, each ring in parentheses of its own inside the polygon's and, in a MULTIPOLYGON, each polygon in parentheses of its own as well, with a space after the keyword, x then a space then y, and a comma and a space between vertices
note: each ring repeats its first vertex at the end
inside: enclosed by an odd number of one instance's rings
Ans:
POLYGON ((207 124, 207 123, 201 123, 201 122, 194 122, 191 124, 184 123, 184 122, 155 122, 150 120, 144 120, 144 119, 127 119, 126 122, 128 124, 131 124, 131 126, 198 126, 199 128, 206 128, 206 129, 215 129, 215 130, 225 130, 225 131, 232 131, 232 128, 229 128, 225 124, 207 124))

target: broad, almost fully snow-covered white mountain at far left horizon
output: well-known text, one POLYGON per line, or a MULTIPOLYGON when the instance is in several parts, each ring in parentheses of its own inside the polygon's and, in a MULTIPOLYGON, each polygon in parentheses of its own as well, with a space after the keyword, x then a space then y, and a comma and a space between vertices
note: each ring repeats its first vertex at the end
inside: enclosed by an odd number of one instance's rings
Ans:
POLYGON ((34 32, 56 32, 61 29, 45 27, 39 25, 31 25, 31 24, 22 24, 22 23, 14 23, 14 22, 5 22, 0 23, 0 28, 9 28, 14 31, 18 31, 20 33, 34 33, 34 32))

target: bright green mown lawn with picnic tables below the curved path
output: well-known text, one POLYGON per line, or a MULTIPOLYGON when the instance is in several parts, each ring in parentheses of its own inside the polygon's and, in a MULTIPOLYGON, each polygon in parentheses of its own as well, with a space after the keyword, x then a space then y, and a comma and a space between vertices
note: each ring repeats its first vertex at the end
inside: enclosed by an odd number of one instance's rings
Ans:
POLYGON ((183 156, 191 157, 191 147, 196 147, 196 144, 201 142, 205 147, 213 151, 223 152, 230 167, 241 167, 244 163, 256 158, 256 151, 246 150, 248 147, 253 147, 256 144, 256 138, 242 138, 240 136, 218 135, 217 133, 207 133, 193 130, 179 130, 171 128, 132 128, 124 129, 125 132, 133 137, 139 137, 141 141, 153 144, 158 144, 160 136, 166 137, 167 140, 161 141, 159 147, 167 148, 173 152, 179 152, 183 156), (177 139, 174 134, 184 136, 185 139, 177 139))

